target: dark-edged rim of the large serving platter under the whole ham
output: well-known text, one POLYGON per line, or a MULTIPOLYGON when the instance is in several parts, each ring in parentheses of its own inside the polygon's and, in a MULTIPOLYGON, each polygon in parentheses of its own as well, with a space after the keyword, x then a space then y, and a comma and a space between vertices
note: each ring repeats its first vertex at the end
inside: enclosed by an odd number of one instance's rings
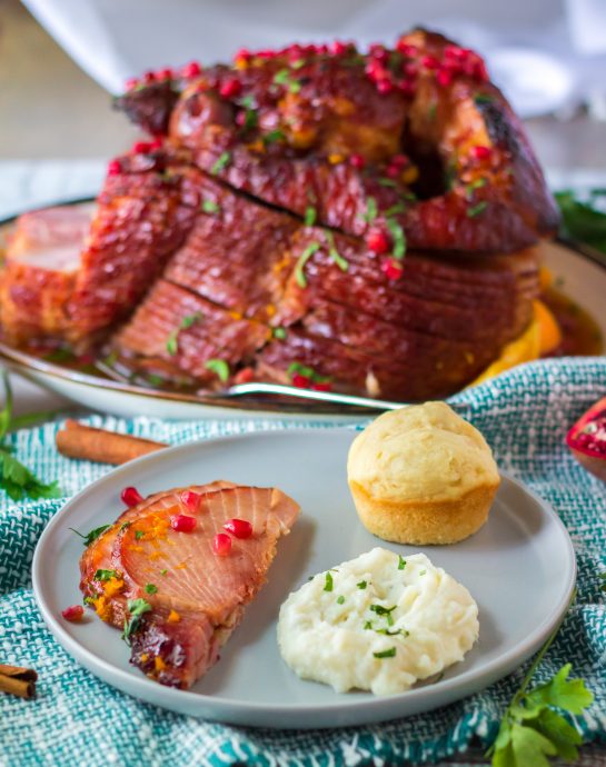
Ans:
MULTIPOLYGON (((48 205, 44 205, 43 208, 50 208, 50 207, 69 207, 69 206, 77 206, 77 205, 87 205, 90 202, 96 202, 97 198, 96 197, 80 197, 80 198, 74 198, 74 199, 68 199, 68 200, 58 200, 54 202, 49 202, 48 205)), ((26 211, 22 212, 30 212, 32 210, 39 210, 40 208, 31 208, 27 209, 26 211)), ((7 226, 10 226, 13 223, 19 216, 22 213, 13 213, 11 216, 7 216, 3 218, 0 218, 0 229, 7 226)), ((590 246, 587 246, 583 242, 577 242, 576 240, 573 240, 570 238, 565 238, 565 237, 556 237, 553 240, 556 245, 567 248, 568 250, 572 250, 576 255, 585 258, 587 261, 590 261, 592 263, 600 267, 606 271, 606 256, 600 253, 598 250, 592 248, 590 246)), ((316 416, 318 418, 336 418, 336 417, 347 417, 347 416, 364 416, 365 414, 371 414, 374 410, 370 408, 367 408, 365 411, 359 412, 359 410, 356 410, 355 408, 351 407, 338 407, 335 406, 331 408, 330 406, 327 406, 322 409, 311 409, 309 401, 305 401, 305 404, 301 404, 300 406, 297 406, 296 404, 286 405, 286 404, 270 404, 270 402, 255 402, 250 401, 247 402, 246 400, 239 399, 239 398, 219 398, 219 397, 212 397, 212 398, 205 398, 203 396, 199 395, 189 395, 189 394, 179 394, 179 392, 172 392, 172 391, 161 391, 157 389, 147 389, 145 387, 139 387, 135 386, 132 384, 127 384, 127 382, 121 382, 121 381, 116 381, 112 379, 106 379, 106 378, 100 378, 97 376, 92 376, 89 373, 82 373, 77 370, 71 370, 70 368, 63 367, 61 365, 58 365, 56 362, 49 362, 42 359, 39 359, 34 357, 33 355, 29 355, 24 351, 21 351, 20 349, 14 349, 10 345, 6 343, 4 341, 0 340, 0 361, 4 361, 9 366, 13 367, 17 371, 19 371, 19 367, 23 368, 22 372, 29 372, 30 370, 33 370, 37 373, 41 373, 43 376, 50 376, 51 378, 58 378, 62 381, 67 381, 68 384, 76 384, 78 386, 85 386, 88 387, 89 389, 99 389, 99 388, 106 388, 106 389, 111 389, 112 391, 118 392, 119 395, 123 395, 127 397, 145 397, 147 399, 160 401, 160 402, 169 402, 169 404, 182 404, 182 405, 192 405, 192 406, 200 406, 201 408, 210 408, 211 410, 218 410, 218 409, 228 409, 234 412, 234 416, 241 416, 242 414, 246 416, 264 416, 264 415, 271 415, 276 416, 278 415, 284 415, 285 417, 292 417, 296 418, 298 416, 316 416)), ((467 388, 473 388, 473 387, 467 387, 467 388)), ((459 392, 457 392, 459 394, 459 392)), ((453 395, 455 396, 455 395, 453 395)), ((447 398, 449 399, 449 398, 447 398)), ((401 402, 401 405, 407 405, 408 402, 401 402)), ((379 410, 379 409, 378 409, 379 410)))

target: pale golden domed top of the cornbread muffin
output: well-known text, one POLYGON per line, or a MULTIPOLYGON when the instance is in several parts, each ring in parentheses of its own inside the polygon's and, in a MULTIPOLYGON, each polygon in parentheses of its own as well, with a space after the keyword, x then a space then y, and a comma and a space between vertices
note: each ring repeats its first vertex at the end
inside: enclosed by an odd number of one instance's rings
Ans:
POLYGON ((349 449, 347 475, 377 500, 448 500, 499 484, 480 432, 445 402, 379 416, 349 449))

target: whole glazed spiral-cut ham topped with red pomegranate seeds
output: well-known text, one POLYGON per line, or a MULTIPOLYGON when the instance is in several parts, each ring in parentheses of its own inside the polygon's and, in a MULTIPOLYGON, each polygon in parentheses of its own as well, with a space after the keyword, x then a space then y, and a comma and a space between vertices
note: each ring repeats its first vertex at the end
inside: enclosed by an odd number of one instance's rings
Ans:
POLYGON ((557 213, 473 51, 421 30, 364 56, 239 51, 117 106, 152 139, 110 162, 87 235, 73 220, 66 243, 73 212, 42 245, 49 211, 19 221, 9 342, 102 345, 153 382, 409 400, 460 389, 529 325, 557 213))

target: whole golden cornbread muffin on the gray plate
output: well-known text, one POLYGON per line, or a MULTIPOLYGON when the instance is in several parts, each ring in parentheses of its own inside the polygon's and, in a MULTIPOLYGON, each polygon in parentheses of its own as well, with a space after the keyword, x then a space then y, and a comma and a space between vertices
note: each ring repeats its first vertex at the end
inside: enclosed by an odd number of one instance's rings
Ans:
POLYGON ((362 525, 398 544, 455 544, 476 532, 500 482, 480 432, 445 402, 379 416, 347 460, 362 525))

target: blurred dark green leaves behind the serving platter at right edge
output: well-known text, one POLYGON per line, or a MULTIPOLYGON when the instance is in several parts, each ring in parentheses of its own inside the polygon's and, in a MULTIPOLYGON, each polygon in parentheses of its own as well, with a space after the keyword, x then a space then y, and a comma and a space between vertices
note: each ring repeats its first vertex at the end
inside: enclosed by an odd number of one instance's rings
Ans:
POLYGON ((606 253, 606 209, 600 210, 606 189, 593 189, 583 200, 572 191, 556 192, 555 198, 563 219, 560 233, 606 253))

